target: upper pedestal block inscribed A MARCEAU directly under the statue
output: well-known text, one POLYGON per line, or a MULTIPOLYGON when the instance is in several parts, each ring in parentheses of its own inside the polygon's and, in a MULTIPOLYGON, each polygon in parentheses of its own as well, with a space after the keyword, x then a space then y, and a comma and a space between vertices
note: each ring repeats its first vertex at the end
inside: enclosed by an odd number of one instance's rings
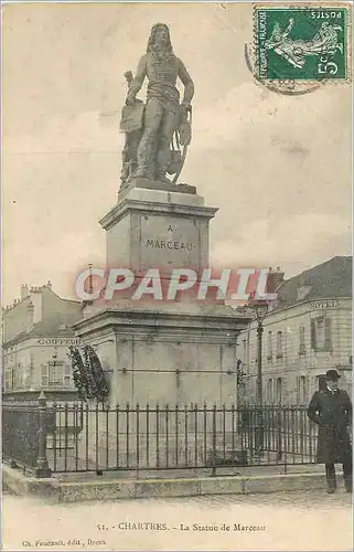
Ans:
MULTIPOLYGON (((136 183, 141 181, 149 184, 143 179, 136 183)), ((208 223, 217 209, 204 206, 201 195, 186 193, 192 187, 181 185, 125 191, 99 221, 107 232, 108 267, 129 267, 136 274, 159 268, 169 274, 171 268, 208 266, 208 223)))

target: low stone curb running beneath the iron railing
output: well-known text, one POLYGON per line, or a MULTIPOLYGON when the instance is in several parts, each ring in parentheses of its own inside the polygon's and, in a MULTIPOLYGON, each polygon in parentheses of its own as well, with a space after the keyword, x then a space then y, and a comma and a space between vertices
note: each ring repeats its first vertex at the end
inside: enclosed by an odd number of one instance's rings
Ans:
POLYGON ((251 495, 323 489, 324 474, 288 474, 251 477, 201 477, 184 479, 109 479, 65 482, 25 477, 2 467, 3 485, 19 496, 41 497, 50 502, 81 502, 139 498, 251 495))

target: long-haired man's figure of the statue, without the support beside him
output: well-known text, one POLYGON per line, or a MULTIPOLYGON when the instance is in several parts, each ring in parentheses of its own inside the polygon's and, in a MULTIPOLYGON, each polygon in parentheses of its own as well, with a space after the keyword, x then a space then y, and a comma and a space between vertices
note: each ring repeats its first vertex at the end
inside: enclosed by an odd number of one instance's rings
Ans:
POLYGON ((157 23, 151 30, 147 53, 140 59, 137 73, 129 83, 126 105, 135 105, 146 77, 149 82, 148 96, 133 177, 164 181, 173 134, 185 120, 194 95, 193 81, 172 51, 165 24, 157 23), (178 77, 184 84, 181 104, 175 86, 178 77))

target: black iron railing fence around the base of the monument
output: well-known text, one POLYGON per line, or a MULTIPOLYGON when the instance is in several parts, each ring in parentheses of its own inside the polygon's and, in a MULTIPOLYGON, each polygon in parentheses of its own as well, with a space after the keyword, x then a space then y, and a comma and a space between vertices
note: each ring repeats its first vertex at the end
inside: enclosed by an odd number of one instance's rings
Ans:
POLYGON ((299 406, 2 404, 4 459, 51 473, 315 464, 299 406))

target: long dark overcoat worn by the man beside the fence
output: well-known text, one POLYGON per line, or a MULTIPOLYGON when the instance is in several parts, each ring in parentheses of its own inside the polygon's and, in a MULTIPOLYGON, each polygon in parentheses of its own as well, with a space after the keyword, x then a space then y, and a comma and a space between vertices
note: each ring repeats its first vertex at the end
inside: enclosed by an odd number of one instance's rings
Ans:
POLYGON ((352 402, 346 391, 317 391, 310 401, 308 416, 319 424, 318 463, 351 463, 352 402))

